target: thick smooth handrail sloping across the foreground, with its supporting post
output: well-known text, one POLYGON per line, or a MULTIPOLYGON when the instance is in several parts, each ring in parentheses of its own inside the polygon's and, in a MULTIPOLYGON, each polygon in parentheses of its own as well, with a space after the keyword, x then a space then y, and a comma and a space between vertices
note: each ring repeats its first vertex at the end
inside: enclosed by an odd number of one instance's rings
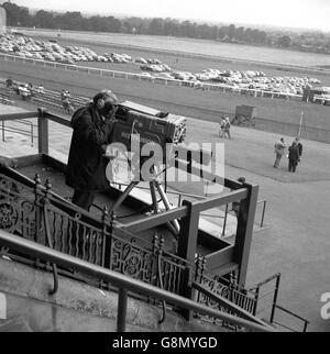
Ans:
MULTIPOLYGON (((240 325, 242 328, 246 328, 248 330, 251 330, 251 331, 275 332, 275 330, 267 324, 260 324, 260 323, 251 322, 249 320, 241 319, 231 314, 223 313, 221 311, 197 303, 187 298, 177 296, 166 290, 162 290, 152 285, 132 279, 120 273, 105 269, 102 267, 92 265, 88 262, 63 254, 58 251, 51 250, 46 246, 36 244, 32 241, 24 240, 16 235, 10 234, 3 230, 0 230, 0 244, 4 247, 15 250, 23 254, 29 254, 30 256, 34 256, 34 257, 44 259, 46 262, 57 264, 58 266, 75 269, 88 276, 92 276, 100 280, 108 281, 113 286, 116 286, 117 288, 121 289, 120 294, 124 292, 124 297, 127 296, 127 291, 144 294, 144 295, 157 298, 162 301, 168 301, 178 307, 186 308, 191 311, 196 311, 200 314, 209 316, 211 318, 216 318, 222 321, 227 321, 229 323, 233 323, 235 325, 240 325), (122 291, 122 289, 127 291, 122 291)), ((119 302, 123 305, 123 308, 122 307, 118 308, 118 318, 121 318, 121 321, 120 321, 121 330, 124 330, 125 319, 122 318, 122 316, 123 313, 125 313, 125 310, 127 310, 127 301, 123 301, 122 297, 119 296, 119 302)))

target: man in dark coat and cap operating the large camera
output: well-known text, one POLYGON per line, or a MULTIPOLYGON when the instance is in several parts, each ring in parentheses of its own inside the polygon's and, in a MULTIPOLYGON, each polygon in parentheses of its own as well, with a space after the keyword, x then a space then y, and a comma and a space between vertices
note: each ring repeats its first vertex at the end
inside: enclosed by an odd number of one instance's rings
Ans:
POLYGON ((96 192, 109 189, 105 153, 111 143, 118 103, 116 95, 102 90, 72 118, 66 184, 75 189, 73 203, 88 211, 96 192))

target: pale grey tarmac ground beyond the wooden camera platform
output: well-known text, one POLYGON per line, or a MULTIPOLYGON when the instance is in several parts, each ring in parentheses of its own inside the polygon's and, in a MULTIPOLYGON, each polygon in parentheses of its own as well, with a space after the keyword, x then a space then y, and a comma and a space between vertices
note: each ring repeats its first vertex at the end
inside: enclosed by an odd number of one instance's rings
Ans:
MULTIPOLYGON (((12 109, 6 107, 7 112, 12 109)), ((70 131, 58 126, 54 123, 50 128, 51 155, 65 159, 70 131)), ((233 139, 221 140, 218 128, 217 123, 189 120, 187 141, 224 143, 226 177, 244 176, 246 181, 260 185, 258 199, 267 200, 267 228, 254 233, 248 287, 280 273, 278 303, 308 319, 309 331, 330 331, 330 320, 321 318, 323 303, 320 301, 322 294, 330 292, 330 145, 302 141, 302 161, 297 173, 292 174, 287 172, 285 157, 278 169, 273 168, 274 143, 282 136, 232 126, 233 139)), ((28 136, 7 134, 7 141, 20 144, 1 141, 1 154, 15 154, 22 147, 24 155, 33 151, 28 136)), ((287 143, 294 139, 284 137, 287 143)), ((260 218, 261 206, 256 221, 260 218)))

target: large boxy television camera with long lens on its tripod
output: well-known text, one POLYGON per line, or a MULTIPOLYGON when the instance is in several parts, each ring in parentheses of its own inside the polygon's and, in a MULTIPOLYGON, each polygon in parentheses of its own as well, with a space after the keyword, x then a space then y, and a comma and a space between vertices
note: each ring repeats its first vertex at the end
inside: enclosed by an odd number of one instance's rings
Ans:
MULTIPOLYGON (((114 143, 116 151, 110 151, 108 154, 112 156, 112 161, 114 162, 120 159, 120 155, 124 155, 124 158, 129 161, 130 168, 133 170, 138 168, 139 178, 134 178, 127 184, 127 189, 110 208, 110 212, 114 212, 128 197, 131 190, 141 181, 148 182, 153 210, 155 213, 157 213, 160 210, 160 201, 163 202, 163 206, 166 210, 172 209, 170 202, 168 201, 166 192, 164 191, 160 180, 160 176, 165 173, 164 180, 166 186, 166 169, 175 166, 175 161, 177 161, 178 156, 186 156, 185 159, 187 164, 191 164, 193 159, 201 165, 209 164, 211 161, 210 153, 205 153, 201 151, 191 152, 191 150, 184 145, 186 130, 187 119, 185 117, 157 111, 131 101, 125 101, 119 104, 116 112, 116 123, 112 135, 112 144, 114 143), (139 137, 139 144, 133 143, 133 140, 136 137, 139 137), (141 156, 141 151, 146 144, 150 144, 151 147, 157 146, 158 151, 161 150, 162 152, 162 157, 158 161, 154 159, 150 165, 151 169, 153 170, 153 177, 148 179, 141 177, 142 165, 145 163, 145 161, 153 157, 153 152, 151 152, 148 156, 141 156), (136 145, 139 147, 138 150, 136 145), (128 155, 130 155, 130 157, 128 157, 128 155), (139 155, 138 159, 136 155, 139 155), (160 200, 156 196, 157 192, 161 197, 160 200)), ((111 172, 112 182, 116 169, 113 166, 111 172)), ((134 176, 136 177, 136 175, 134 176)), ((109 178, 109 180, 111 179, 109 178)), ((121 182, 118 184, 124 185, 121 182)), ((174 234, 177 235, 179 232, 178 222, 174 221, 170 226, 174 230, 174 234)))

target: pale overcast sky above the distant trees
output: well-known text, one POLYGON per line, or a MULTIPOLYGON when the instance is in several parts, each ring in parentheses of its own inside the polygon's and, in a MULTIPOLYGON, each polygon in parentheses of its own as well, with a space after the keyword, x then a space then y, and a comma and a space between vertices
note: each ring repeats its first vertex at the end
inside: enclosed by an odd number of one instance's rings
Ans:
MULTIPOLYGON (((204 20, 330 32, 330 0, 11 0, 18 5, 105 15, 204 20)), ((3 1, 2 1, 3 2, 3 1)))

